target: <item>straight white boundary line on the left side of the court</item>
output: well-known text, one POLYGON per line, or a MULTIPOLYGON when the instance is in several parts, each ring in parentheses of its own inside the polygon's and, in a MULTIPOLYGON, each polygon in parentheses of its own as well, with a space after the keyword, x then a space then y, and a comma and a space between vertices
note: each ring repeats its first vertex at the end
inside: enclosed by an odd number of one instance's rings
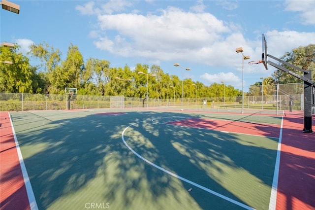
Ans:
POLYGON ((34 192, 33 192, 32 185, 31 185, 31 181, 30 181, 28 172, 26 171, 26 167, 25 167, 25 164, 24 164, 24 160, 23 160, 23 156, 22 156, 22 153, 21 153, 20 145, 19 145, 18 139, 16 138, 16 135, 15 135, 15 130, 14 130, 14 127, 13 127, 12 118, 11 118, 10 114, 9 114, 9 118, 10 118, 10 122, 11 122, 11 129, 12 129, 12 133, 13 133, 13 136, 14 136, 16 150, 17 150, 18 156, 19 156, 19 161, 20 161, 20 166, 21 166, 22 175, 23 175, 23 179, 24 179, 24 184, 25 184, 25 187, 26 187, 26 192, 28 194, 30 207, 31 207, 31 210, 38 210, 38 207, 37 207, 37 204, 36 204, 36 200, 35 200, 35 196, 34 196, 34 192))

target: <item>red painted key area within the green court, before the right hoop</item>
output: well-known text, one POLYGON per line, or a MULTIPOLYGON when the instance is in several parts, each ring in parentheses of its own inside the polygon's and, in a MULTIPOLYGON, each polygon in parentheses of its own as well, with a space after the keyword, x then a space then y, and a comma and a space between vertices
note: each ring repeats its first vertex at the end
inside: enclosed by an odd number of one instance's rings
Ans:
POLYGON ((168 122, 167 124, 273 138, 279 138, 280 133, 280 125, 266 125, 229 120, 189 118, 185 120, 168 122))

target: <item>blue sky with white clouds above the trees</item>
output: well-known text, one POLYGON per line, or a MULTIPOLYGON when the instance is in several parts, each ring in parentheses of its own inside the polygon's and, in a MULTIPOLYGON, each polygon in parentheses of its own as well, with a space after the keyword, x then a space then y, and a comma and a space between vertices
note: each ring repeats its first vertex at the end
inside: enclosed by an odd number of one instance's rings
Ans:
POLYGON ((315 0, 10 1, 20 5, 20 14, 0 10, 0 42, 18 44, 25 55, 31 44, 46 42, 64 60, 72 43, 84 61, 104 59, 131 70, 158 65, 207 86, 224 82, 242 89, 244 77, 246 91, 271 76, 275 68, 248 64, 261 60, 262 34, 268 54, 277 58, 315 44, 315 0), (236 53, 238 47, 249 60, 236 53))

